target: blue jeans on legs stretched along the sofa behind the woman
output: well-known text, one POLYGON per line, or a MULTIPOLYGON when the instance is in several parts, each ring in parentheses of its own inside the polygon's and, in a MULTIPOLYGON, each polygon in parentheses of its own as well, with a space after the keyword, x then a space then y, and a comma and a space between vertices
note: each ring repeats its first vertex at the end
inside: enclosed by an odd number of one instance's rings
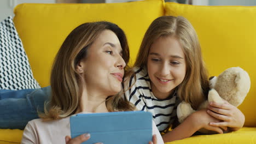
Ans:
POLYGON ((51 87, 0 89, 0 129, 24 129, 27 122, 39 118, 44 112, 45 101, 50 100, 51 87))

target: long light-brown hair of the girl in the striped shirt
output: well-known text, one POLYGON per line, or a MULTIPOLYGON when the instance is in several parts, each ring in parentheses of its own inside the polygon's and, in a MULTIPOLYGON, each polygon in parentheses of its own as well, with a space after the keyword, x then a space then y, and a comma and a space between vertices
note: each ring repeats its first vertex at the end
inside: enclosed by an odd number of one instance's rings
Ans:
MULTIPOLYGON (((196 109, 205 100, 208 92, 208 72, 202 59, 197 34, 187 19, 182 16, 161 16, 155 19, 144 35, 133 67, 146 68, 150 46, 159 37, 175 37, 182 45, 186 74, 178 86, 177 94, 181 100, 196 109)), ((129 70, 129 74, 132 74, 131 71, 129 70)))

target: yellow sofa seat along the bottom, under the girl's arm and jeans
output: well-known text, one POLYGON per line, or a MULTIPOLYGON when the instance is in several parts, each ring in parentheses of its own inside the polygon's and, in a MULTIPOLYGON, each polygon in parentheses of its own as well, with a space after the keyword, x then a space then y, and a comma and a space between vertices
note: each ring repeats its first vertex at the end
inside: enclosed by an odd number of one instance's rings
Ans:
MULTIPOLYGON (((0 129, 0 143, 20 143, 22 138, 22 130, 18 129, 0 129)), ((192 136, 187 139, 166 142, 165 144, 197 144, 197 143, 218 143, 218 144, 230 144, 230 143, 256 143, 256 128, 243 127, 238 131, 233 131, 227 134, 216 135, 199 135, 192 136)))

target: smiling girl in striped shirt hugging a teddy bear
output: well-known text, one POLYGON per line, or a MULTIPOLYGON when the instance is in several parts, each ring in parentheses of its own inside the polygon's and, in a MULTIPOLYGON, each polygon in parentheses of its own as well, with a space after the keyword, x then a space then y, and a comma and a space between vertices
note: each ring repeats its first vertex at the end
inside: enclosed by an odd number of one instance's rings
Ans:
POLYGON ((179 101, 196 109, 205 100, 208 74, 201 47, 191 23, 184 17, 161 16, 154 20, 144 35, 134 67, 124 82, 125 97, 137 109, 153 113, 165 142, 184 139, 200 128, 223 133, 222 127, 238 130, 245 116, 228 102, 211 103, 209 110, 193 113, 172 131, 177 121, 179 101))

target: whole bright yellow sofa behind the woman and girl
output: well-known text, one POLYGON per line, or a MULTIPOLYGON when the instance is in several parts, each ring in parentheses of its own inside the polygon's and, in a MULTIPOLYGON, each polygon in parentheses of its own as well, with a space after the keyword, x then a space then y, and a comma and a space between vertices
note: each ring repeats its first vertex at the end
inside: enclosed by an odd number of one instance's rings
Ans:
MULTIPOLYGON (((106 20, 124 29, 135 61, 150 23, 162 15, 184 16, 195 27, 211 75, 241 67, 251 77, 251 90, 238 108, 245 114, 241 130, 193 136, 171 143, 256 143, 256 7, 195 6, 161 0, 112 4, 20 4, 14 9, 20 35, 40 86, 49 85, 53 58, 69 32, 81 23, 106 20)), ((0 143, 19 143, 22 130, 0 129, 0 143)))

